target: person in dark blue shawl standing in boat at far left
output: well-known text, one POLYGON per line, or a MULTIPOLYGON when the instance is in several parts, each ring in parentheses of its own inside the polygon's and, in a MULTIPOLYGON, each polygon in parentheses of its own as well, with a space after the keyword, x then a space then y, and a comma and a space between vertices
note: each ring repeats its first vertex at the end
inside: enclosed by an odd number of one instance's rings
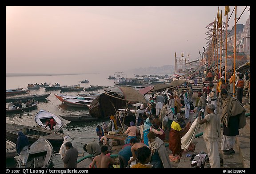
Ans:
POLYGON ((21 166, 25 166, 29 155, 29 142, 28 137, 24 135, 21 131, 18 132, 16 151, 19 154, 19 159, 22 162, 21 166))

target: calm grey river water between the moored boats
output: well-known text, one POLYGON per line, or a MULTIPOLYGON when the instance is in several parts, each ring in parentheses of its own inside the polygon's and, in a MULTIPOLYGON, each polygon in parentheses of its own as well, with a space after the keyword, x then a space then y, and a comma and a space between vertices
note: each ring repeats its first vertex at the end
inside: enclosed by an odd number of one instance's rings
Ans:
MULTIPOLYGON (((52 76, 16 76, 16 77, 6 77, 6 89, 14 89, 23 87, 27 88, 28 84, 41 84, 46 82, 48 83, 59 83, 60 85, 77 85, 80 84, 82 87, 89 87, 90 85, 100 85, 100 86, 111 86, 114 87, 114 80, 108 79, 108 75, 111 74, 77 74, 77 75, 52 75, 52 76), (88 79, 88 83, 80 83, 80 81, 88 79)), ((127 75, 128 78, 134 77, 134 74, 127 75)), ((162 80, 162 79, 161 79, 162 80)), ((93 93, 103 93, 103 89, 92 91, 93 93)), ((30 111, 29 113, 18 113, 18 114, 6 114, 6 123, 15 123, 28 126, 36 126, 34 116, 40 109, 47 110, 56 116, 59 115, 68 115, 72 114, 81 114, 88 113, 86 108, 73 108, 68 107, 65 104, 62 104, 61 101, 56 99, 54 93, 60 93, 60 90, 55 91, 46 91, 44 88, 40 87, 37 90, 30 90, 29 94, 44 94, 51 93, 47 100, 39 101, 37 108, 30 111)), ((79 92, 65 92, 62 94, 74 95, 77 93, 84 93, 83 91, 79 92)), ((6 108, 8 104, 6 103, 6 108)), ((76 141, 77 147, 79 148, 79 154, 88 155, 84 150, 84 143, 89 143, 92 141, 98 142, 98 136, 96 135, 96 127, 98 124, 102 126, 102 122, 106 121, 108 124, 108 119, 92 122, 70 122, 60 118, 64 122, 63 133, 74 138, 76 141)), ((16 143, 16 142, 15 142, 16 143)), ((60 147, 54 147, 54 157, 52 159, 51 168, 63 168, 63 162, 60 158, 59 153, 60 147)), ((79 156, 78 159, 82 158, 79 156)), ((6 160, 6 168, 15 168, 18 162, 18 155, 14 159, 6 160)))

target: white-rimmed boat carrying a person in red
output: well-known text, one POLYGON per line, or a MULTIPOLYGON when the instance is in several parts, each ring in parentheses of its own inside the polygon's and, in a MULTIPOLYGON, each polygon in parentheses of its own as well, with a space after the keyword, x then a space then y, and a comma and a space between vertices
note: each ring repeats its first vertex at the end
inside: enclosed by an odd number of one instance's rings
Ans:
MULTIPOLYGON (((54 131, 61 131, 63 128, 63 122, 60 120, 59 117, 56 115, 47 112, 43 109, 41 109, 39 112, 37 112, 35 116, 36 124, 38 124, 41 128, 44 128, 46 126, 46 120, 52 118, 53 120, 56 121, 56 125, 53 127, 54 131)), ((47 126, 46 129, 50 130, 50 128, 47 126)))

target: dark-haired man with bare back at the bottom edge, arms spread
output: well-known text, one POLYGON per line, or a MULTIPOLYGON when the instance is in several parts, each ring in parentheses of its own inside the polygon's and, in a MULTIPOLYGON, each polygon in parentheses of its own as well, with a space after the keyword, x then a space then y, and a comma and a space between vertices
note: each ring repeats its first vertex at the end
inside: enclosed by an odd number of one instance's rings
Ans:
POLYGON ((108 153, 108 147, 107 146, 102 146, 100 148, 101 150, 101 154, 94 157, 94 159, 92 160, 92 165, 90 166, 90 168, 108 168, 109 165, 113 165, 113 164, 120 164, 119 161, 116 161, 114 159, 112 159, 109 156, 106 156, 106 154, 108 153), (95 167, 94 167, 95 166, 95 167))

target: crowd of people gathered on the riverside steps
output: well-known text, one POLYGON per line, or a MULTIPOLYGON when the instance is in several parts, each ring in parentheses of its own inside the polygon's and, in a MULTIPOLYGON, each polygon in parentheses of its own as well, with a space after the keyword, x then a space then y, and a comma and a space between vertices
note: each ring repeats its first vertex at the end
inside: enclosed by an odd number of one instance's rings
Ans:
MULTIPOLYGON (((220 168, 218 139, 221 138, 221 125, 223 135, 220 149, 225 155, 232 155, 235 153, 233 146, 235 137, 239 134, 238 130, 246 124, 245 108, 242 104, 244 90, 248 91, 247 96, 250 100, 248 71, 244 74, 235 74, 236 97, 233 97, 233 74, 227 73, 226 80, 224 74, 221 75, 218 73, 217 77, 212 70, 205 73, 198 71, 192 78, 188 78, 192 79, 194 86, 197 87, 197 96, 194 95, 192 82, 187 80, 185 84, 152 94, 149 102, 137 106, 134 113, 128 109, 125 114, 116 112, 109 116, 108 124, 103 122, 102 125, 97 125, 96 135, 99 144, 84 144, 84 151, 95 156, 90 168, 109 168, 112 165, 120 165, 120 168, 172 168, 165 143, 169 144, 172 156, 182 156, 181 138, 190 128, 190 113, 195 112, 194 119, 203 128, 211 168, 220 168), (197 81, 196 76, 201 77, 202 81, 197 81), (213 81, 217 81, 217 84, 214 85, 213 81), (199 85, 200 82, 202 85, 199 85), (193 101, 196 101, 195 105, 193 101), (222 109, 221 113, 218 112, 217 106, 222 109), (167 132, 168 136, 165 136, 167 132), (118 161, 110 158, 111 146, 109 138, 105 136, 107 134, 127 135, 125 145, 118 153, 118 161)), ((46 127, 52 129, 54 123, 50 121, 46 127)), ((22 134, 18 140, 20 139, 25 139, 22 134)), ((22 157, 24 155, 21 152, 29 150, 29 143, 24 140, 20 146, 18 140, 19 147, 16 147, 16 150, 22 157)), ((60 155, 64 168, 76 168, 78 148, 69 136, 64 138, 60 155)), ((22 159, 22 162, 25 163, 26 158, 22 159)))

